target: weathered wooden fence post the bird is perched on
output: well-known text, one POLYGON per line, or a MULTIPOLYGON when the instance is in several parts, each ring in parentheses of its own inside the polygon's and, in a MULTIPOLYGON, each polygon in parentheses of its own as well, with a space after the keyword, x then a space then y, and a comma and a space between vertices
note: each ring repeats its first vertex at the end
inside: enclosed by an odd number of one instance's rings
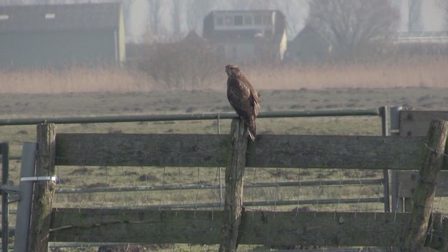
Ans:
POLYGON ((243 176, 246 168, 248 134, 242 120, 232 120, 232 155, 225 168, 224 220, 221 228, 220 252, 237 251, 244 219, 243 176))

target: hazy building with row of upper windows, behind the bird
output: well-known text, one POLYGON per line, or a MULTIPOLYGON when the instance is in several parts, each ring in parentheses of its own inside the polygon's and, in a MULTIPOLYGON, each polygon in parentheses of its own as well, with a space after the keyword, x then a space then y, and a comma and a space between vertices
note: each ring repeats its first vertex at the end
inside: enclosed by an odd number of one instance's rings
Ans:
POLYGON ((285 15, 279 10, 211 11, 202 36, 236 62, 279 61, 287 47, 285 15))

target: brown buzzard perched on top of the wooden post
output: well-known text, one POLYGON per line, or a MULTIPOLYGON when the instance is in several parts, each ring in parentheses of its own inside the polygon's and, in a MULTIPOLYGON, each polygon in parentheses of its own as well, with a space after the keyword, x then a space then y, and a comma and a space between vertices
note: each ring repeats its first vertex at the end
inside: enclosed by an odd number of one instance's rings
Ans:
POLYGON ((238 66, 229 64, 225 66, 225 72, 228 75, 227 98, 239 118, 247 125, 249 136, 253 141, 257 135, 255 118, 260 109, 260 96, 238 66))

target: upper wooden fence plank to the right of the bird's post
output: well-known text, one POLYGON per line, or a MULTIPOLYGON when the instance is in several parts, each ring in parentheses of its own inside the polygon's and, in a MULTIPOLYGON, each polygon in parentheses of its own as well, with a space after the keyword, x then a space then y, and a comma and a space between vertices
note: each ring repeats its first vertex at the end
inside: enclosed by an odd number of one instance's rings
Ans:
POLYGON ((423 139, 372 136, 260 135, 248 166, 408 169, 420 162, 423 139))

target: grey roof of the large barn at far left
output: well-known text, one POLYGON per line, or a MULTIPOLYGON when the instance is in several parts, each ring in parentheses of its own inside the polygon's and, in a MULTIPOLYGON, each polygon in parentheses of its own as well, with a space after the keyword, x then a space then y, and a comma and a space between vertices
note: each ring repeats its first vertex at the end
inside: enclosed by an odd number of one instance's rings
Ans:
POLYGON ((120 2, 0 6, 0 32, 117 29, 120 8, 120 2))

